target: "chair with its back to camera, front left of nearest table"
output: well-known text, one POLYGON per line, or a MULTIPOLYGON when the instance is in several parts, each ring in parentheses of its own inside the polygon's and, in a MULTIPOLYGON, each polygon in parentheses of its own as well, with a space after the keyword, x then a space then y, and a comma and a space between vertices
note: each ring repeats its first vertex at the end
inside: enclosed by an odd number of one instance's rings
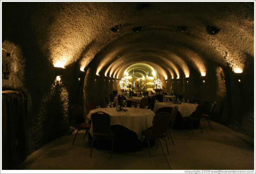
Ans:
POLYGON ((91 143, 91 152, 90 157, 92 154, 93 142, 97 140, 97 145, 99 144, 99 139, 102 140, 112 140, 111 146, 111 158, 113 153, 113 145, 115 141, 116 134, 115 132, 111 131, 110 128, 110 115, 105 112, 96 112, 91 114, 91 121, 92 121, 92 143, 91 143))

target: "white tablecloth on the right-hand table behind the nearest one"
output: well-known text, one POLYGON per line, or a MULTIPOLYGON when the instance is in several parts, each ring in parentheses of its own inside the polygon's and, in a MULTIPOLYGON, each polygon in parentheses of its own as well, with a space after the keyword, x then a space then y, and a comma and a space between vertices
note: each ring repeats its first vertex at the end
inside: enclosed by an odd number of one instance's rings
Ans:
POLYGON ((173 102, 157 102, 154 105, 154 113, 161 107, 178 107, 178 111, 181 113, 182 117, 186 117, 191 115, 196 110, 197 104, 192 103, 182 103, 182 104, 174 104, 173 102))

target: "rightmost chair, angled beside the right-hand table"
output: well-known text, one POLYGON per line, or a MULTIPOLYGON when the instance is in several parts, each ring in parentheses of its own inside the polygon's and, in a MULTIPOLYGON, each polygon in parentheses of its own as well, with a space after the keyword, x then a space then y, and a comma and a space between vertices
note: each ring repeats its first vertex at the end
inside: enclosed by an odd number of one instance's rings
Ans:
POLYGON ((187 117, 183 117, 180 131, 182 130, 183 123, 186 123, 186 124, 190 125, 190 127, 192 129, 192 132, 194 134, 193 125, 197 123, 200 126, 201 133, 203 133, 202 128, 201 128, 201 124, 200 124, 200 120, 201 120, 201 116, 202 116, 202 113, 203 113, 203 109, 204 109, 204 105, 200 104, 200 105, 198 105, 196 107, 196 110, 195 110, 195 112, 193 114, 191 114, 190 116, 187 116, 187 117))

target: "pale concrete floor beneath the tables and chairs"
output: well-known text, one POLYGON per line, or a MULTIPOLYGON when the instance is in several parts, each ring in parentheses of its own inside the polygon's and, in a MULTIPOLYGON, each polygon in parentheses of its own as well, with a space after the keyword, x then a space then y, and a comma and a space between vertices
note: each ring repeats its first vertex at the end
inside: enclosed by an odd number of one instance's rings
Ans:
POLYGON ((211 130, 201 121, 202 131, 172 130, 172 141, 166 146, 137 152, 113 152, 90 148, 87 136, 78 135, 72 145, 75 132, 60 137, 27 157, 16 170, 254 170, 254 139, 212 122, 211 130))

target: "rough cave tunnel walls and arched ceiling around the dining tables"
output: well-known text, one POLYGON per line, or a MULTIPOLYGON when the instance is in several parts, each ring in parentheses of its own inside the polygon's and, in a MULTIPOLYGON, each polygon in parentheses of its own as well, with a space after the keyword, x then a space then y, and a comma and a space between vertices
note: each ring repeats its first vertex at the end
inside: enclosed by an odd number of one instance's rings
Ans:
POLYGON ((254 137, 254 7, 1 2, 3 168, 75 131, 74 104, 88 122, 87 103, 106 107, 125 76, 134 87, 150 76, 168 94, 215 101, 213 122, 254 137))

